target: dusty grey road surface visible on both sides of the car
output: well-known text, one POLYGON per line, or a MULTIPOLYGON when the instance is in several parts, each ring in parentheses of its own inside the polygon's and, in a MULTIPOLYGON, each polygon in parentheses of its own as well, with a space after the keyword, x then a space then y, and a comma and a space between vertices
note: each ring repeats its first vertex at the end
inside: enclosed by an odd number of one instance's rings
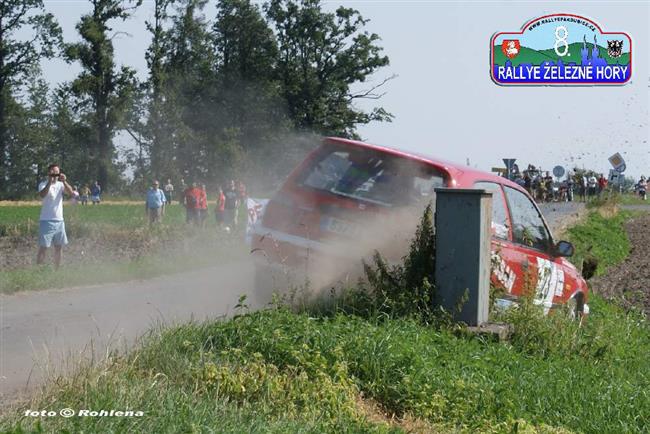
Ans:
MULTIPOLYGON (((543 208, 554 231, 580 209, 565 205, 543 208)), ((48 369, 60 371, 63 362, 93 351, 123 349, 158 323, 227 315, 241 294, 249 295, 251 308, 269 301, 252 287, 252 265, 238 263, 147 281, 0 295, 0 402, 28 394, 48 369)))

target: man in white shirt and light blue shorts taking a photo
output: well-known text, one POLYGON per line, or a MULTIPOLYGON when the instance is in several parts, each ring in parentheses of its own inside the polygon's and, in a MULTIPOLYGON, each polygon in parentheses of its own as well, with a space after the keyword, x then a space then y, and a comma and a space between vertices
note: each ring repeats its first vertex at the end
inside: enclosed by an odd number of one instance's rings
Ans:
POLYGON ((54 245, 54 266, 61 265, 61 249, 68 244, 63 221, 63 192, 72 195, 72 187, 66 176, 56 164, 47 168, 47 181, 38 186, 38 194, 43 198, 38 231, 38 256, 36 262, 42 264, 48 247, 54 245))

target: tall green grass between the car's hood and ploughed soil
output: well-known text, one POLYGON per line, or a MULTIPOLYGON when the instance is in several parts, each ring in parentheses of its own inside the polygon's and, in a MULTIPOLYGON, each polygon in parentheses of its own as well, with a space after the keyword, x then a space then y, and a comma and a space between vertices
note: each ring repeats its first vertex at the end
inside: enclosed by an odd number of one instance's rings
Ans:
POLYGON ((630 241, 624 225, 630 216, 627 211, 619 211, 611 217, 603 217, 598 210, 591 211, 581 224, 567 231, 576 249, 571 261, 581 267, 585 258, 596 258, 596 275, 602 275, 608 267, 625 260, 630 252, 630 241))

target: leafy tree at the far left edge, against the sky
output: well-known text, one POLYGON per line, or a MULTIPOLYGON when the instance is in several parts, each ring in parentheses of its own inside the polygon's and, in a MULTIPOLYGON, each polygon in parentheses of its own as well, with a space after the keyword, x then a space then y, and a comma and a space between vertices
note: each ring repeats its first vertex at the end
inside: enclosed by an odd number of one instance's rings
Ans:
POLYGON ((54 56, 61 44, 61 29, 42 0, 0 1, 0 192, 5 190, 9 110, 17 108, 13 91, 24 84, 42 58, 54 56), (32 35, 21 39, 28 29, 32 35))

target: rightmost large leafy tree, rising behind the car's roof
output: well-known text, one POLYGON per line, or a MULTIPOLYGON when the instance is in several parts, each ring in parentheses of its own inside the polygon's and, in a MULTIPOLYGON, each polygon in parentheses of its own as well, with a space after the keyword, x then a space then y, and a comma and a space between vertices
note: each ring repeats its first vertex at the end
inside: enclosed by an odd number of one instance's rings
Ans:
POLYGON ((352 91, 389 63, 377 45, 379 36, 363 30, 368 20, 358 11, 323 12, 320 0, 271 0, 266 13, 276 29, 278 78, 297 128, 356 137, 359 124, 391 120, 381 107, 365 113, 353 105, 360 98, 380 98, 377 89, 390 79, 352 91))

